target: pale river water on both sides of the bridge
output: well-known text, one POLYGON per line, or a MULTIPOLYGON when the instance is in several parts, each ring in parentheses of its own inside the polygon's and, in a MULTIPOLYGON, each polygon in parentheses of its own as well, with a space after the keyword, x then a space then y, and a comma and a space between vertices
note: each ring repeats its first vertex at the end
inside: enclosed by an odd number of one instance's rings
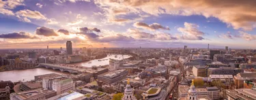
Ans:
MULTIPOLYGON (((82 63, 73 63, 70 65, 79 65, 83 67, 92 67, 94 65, 100 66, 100 65, 109 65, 109 59, 128 59, 130 56, 128 55, 108 55, 103 59, 95 59, 92 61, 82 62, 82 63)), ((12 70, 12 71, 0 71, 0 80, 4 81, 12 81, 12 82, 18 82, 18 81, 29 81, 34 80, 34 76, 40 76, 48 73, 57 73, 57 74, 70 74, 70 73, 64 73, 61 71, 56 71, 53 69, 46 69, 46 68, 35 68, 35 69, 23 69, 23 70, 12 70)))

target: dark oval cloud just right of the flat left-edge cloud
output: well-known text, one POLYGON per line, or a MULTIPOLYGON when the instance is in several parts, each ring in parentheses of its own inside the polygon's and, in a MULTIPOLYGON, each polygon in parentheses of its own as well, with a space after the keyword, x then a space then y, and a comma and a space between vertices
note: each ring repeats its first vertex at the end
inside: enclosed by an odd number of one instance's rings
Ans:
POLYGON ((35 31, 35 34, 44 35, 46 37, 58 36, 58 34, 55 33, 55 31, 53 29, 50 29, 47 27, 38 27, 38 29, 36 29, 36 31, 35 31))

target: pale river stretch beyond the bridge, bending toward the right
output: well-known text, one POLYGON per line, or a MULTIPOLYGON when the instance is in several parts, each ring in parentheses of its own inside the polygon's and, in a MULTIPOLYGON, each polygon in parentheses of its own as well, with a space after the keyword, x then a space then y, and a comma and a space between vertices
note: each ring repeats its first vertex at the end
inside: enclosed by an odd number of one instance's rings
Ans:
POLYGON ((79 65, 79 66, 83 66, 83 67, 109 65, 109 59, 122 60, 122 59, 128 59, 129 57, 130 57, 129 55, 117 55, 117 57, 115 57, 115 55, 108 55, 103 59, 95 59, 95 60, 81 62, 81 63, 72 63, 70 65, 79 65))

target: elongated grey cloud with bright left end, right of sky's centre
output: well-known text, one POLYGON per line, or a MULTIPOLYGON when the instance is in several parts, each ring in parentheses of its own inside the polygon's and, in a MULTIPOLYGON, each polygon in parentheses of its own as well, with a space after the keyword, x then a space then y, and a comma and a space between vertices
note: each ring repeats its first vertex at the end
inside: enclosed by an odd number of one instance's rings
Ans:
POLYGON ((151 31, 158 29, 170 30, 169 27, 162 27, 162 25, 158 23, 146 24, 144 22, 135 22, 133 26, 137 28, 149 29, 151 31))

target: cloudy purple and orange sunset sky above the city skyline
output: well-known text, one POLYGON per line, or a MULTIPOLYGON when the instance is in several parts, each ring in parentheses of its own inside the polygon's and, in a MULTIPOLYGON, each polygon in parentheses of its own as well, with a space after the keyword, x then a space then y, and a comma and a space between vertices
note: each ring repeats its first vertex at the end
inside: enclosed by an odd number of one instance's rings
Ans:
POLYGON ((253 0, 0 0, 0 48, 256 48, 253 0))

